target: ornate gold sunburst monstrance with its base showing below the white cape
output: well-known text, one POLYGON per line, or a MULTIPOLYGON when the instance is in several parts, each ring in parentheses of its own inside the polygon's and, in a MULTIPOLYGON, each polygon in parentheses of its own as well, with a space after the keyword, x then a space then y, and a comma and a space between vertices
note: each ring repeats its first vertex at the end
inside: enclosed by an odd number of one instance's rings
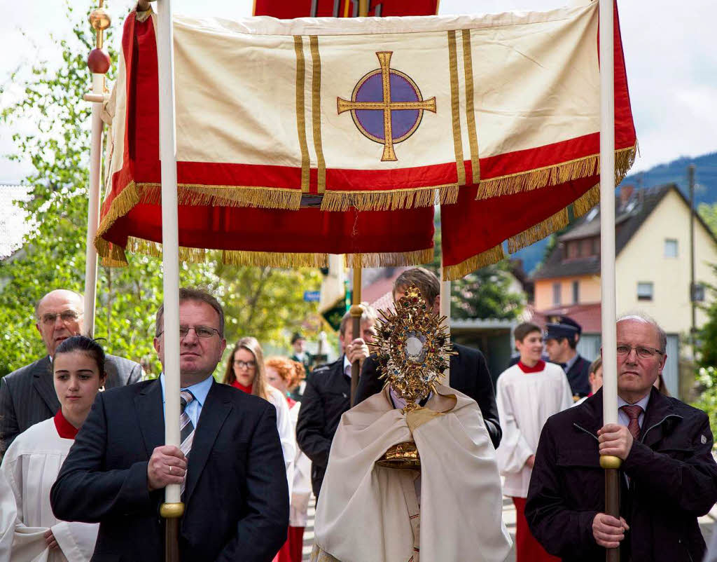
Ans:
MULTIPOLYGON (((409 286, 396 311, 379 311, 378 334, 370 345, 379 356, 381 377, 406 401, 403 413, 420 408, 418 402, 435 392, 448 368, 450 342, 445 317, 432 314, 417 286, 409 286)), ((376 464, 390 468, 418 468, 421 461, 413 441, 392 446, 376 464)))

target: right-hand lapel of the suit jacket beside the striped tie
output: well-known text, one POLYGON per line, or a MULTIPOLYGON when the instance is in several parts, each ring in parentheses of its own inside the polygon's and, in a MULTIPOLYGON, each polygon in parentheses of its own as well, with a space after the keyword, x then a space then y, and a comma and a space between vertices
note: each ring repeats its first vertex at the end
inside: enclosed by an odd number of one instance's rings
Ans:
POLYGON ((229 397, 221 392, 219 383, 212 381, 212 387, 206 395, 206 401, 201 406, 199 421, 194 428, 194 441, 189 451, 189 465, 186 474, 186 490, 184 502, 189 505, 189 498, 194 492, 196 482, 201 476, 206 459, 209 458, 209 451, 212 451, 214 441, 217 441, 219 430, 224 425, 224 420, 232 411, 232 402, 229 397))

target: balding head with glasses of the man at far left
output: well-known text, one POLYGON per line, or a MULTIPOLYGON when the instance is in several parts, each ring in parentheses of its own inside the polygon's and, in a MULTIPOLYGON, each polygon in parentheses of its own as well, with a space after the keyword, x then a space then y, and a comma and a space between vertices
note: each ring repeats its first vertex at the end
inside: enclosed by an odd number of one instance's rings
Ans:
POLYGON ((60 342, 82 333, 84 306, 82 295, 67 289, 50 291, 38 301, 35 327, 50 357, 60 342))

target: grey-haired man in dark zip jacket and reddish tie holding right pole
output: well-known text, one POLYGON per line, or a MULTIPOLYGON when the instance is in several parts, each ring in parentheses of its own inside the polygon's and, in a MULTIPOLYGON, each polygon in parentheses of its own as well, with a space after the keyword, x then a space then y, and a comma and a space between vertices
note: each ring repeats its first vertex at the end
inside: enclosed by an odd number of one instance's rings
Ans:
POLYGON ((603 389, 551 416, 533 466, 526 518, 563 561, 701 561, 697 517, 717 502, 717 464, 706 414, 660 394, 665 331, 649 317, 617 321, 618 423, 603 425, 603 389), (619 519, 604 513, 599 456, 622 459, 619 519))

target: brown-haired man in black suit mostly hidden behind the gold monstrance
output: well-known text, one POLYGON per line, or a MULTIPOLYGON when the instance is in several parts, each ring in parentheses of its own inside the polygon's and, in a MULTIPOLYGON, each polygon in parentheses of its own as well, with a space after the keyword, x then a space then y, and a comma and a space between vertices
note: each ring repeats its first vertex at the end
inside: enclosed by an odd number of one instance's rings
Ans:
MULTIPOLYGON (((407 269, 394 281, 394 301, 400 299, 409 286, 415 285, 421 291, 426 304, 432 307, 436 314, 440 310, 440 281, 427 269, 417 267, 407 269)), ((483 353, 470 347, 453 344, 453 351, 457 355, 450 357, 450 384, 459 392, 470 396, 478 403, 480 413, 483 414, 485 428, 490 434, 490 441, 497 449, 503 432, 498 421, 498 406, 495 404, 495 390, 493 380, 490 378, 488 364, 483 353)), ((379 361, 376 355, 371 355, 361 369, 359 386, 356 388, 356 403, 363 402, 369 396, 381 392, 384 381, 379 379, 379 361)))

